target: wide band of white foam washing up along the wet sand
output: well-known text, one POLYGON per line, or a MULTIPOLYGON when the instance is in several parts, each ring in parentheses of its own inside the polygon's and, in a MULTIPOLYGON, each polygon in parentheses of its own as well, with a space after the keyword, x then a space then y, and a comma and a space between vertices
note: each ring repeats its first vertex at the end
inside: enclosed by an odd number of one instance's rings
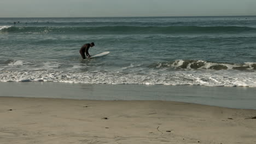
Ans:
POLYGON ((121 73, 107 71, 4 71, 0 73, 3 82, 69 82, 97 84, 143 84, 143 85, 203 85, 228 87, 256 87, 255 72, 219 70, 213 72, 173 71, 172 73, 121 73))

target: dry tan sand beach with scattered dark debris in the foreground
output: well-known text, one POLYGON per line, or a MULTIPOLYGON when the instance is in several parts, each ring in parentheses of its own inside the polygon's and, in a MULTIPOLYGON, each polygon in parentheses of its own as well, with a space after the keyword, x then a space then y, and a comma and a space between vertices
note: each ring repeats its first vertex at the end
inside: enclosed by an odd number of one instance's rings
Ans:
POLYGON ((254 116, 172 101, 0 97, 0 143, 253 144, 254 116))

